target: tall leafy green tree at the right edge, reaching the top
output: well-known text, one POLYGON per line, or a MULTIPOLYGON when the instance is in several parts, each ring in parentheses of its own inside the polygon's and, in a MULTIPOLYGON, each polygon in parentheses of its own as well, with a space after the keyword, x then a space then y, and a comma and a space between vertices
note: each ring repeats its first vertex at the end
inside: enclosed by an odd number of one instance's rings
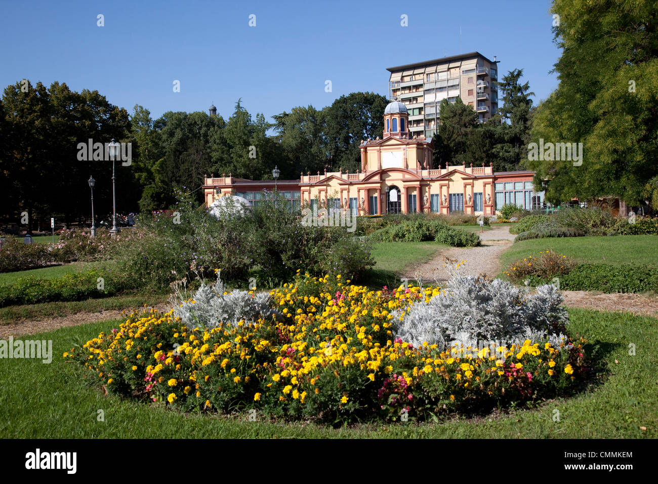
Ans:
POLYGON ((560 83, 531 141, 582 143, 582 160, 538 153, 527 166, 549 201, 617 196, 623 214, 658 175, 658 10, 648 0, 554 0, 551 12, 560 83))

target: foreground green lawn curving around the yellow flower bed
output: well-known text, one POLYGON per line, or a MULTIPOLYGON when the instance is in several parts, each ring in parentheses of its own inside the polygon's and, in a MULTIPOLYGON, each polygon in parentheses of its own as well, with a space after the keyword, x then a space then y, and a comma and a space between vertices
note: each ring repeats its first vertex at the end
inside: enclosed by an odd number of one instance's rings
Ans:
POLYGON ((589 340, 606 360, 609 374, 573 398, 551 400, 532 410, 515 410, 478 419, 417 424, 364 424, 332 429, 309 423, 270 421, 259 415, 232 417, 180 414, 163 406, 124 400, 88 386, 84 369, 64 362, 73 340, 86 341, 117 327, 105 321, 30 336, 52 340, 53 360, 0 359, 0 437, 2 438, 656 438, 658 360, 651 348, 658 320, 629 313, 570 309, 570 330, 589 340), (628 345, 636 345, 635 356, 628 345), (619 363, 615 363, 617 360, 619 363), (103 421, 99 420, 102 410, 103 421), (559 410, 559 421, 553 421, 559 410), (491 419, 491 421, 490 421, 491 419), (646 427, 642 431, 640 427, 646 427))

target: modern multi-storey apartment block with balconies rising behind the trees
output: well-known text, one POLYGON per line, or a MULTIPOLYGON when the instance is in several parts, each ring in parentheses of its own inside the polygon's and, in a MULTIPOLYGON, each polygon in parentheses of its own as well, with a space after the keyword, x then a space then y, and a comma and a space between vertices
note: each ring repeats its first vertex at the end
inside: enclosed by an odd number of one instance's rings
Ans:
POLYGON ((457 97, 473 107, 484 122, 498 109, 498 62, 479 52, 453 55, 398 67, 389 67, 389 97, 397 98, 409 111, 413 135, 434 136, 439 124, 441 101, 457 97))

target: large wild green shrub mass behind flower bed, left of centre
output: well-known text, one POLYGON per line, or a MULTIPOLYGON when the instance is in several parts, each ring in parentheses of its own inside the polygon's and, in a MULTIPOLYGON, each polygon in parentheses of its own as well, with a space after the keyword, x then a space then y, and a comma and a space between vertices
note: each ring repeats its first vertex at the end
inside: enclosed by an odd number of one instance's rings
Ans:
POLYGON ((138 286, 166 288, 197 275, 214 277, 215 269, 236 286, 252 277, 259 286, 276 286, 298 269, 351 278, 374 264, 349 227, 307 225, 287 203, 263 200, 244 215, 216 218, 181 196, 176 212, 175 218, 140 217, 132 240, 114 246, 118 268, 138 286))

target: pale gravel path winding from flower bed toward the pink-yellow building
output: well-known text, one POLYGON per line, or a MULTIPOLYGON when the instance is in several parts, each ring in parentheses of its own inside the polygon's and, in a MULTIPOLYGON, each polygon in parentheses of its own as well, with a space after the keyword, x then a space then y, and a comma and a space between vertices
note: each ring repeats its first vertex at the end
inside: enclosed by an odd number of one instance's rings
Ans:
POLYGON ((499 255, 509 247, 515 238, 515 234, 509 233, 508 227, 497 227, 478 235, 482 239, 480 247, 455 247, 440 250, 434 258, 428 262, 409 267, 404 271, 403 277, 409 281, 422 279, 423 284, 442 284, 449 279, 449 274, 443 267, 443 259, 466 261, 463 273, 466 275, 487 275, 495 277, 501 270, 499 255))

